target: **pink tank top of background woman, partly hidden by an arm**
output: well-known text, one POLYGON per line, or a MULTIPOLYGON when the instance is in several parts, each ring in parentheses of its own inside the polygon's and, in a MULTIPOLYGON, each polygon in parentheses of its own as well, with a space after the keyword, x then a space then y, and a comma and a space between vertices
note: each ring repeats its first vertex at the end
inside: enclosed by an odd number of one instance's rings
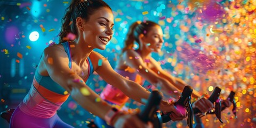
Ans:
MULTIPOLYGON (((142 82, 140 76, 137 75, 135 71, 131 72, 119 69, 115 69, 115 71, 118 74, 129 78, 131 81, 138 82, 139 84, 142 82)), ((105 89, 101 92, 100 97, 119 106, 122 106, 129 99, 129 97, 127 97, 121 90, 110 84, 106 85, 105 89)))

